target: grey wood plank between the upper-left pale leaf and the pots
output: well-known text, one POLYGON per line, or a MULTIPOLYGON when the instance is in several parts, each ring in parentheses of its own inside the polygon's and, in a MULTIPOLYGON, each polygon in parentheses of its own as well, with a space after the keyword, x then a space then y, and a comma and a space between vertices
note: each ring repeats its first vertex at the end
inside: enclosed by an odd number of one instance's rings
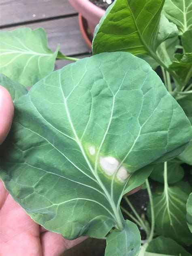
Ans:
MULTIPOLYGON (((3 30, 13 30, 22 27, 26 26, 4 28, 3 30)), ((53 51, 56 49, 57 44, 60 43, 60 51, 65 55, 90 52, 81 37, 77 16, 28 24, 27 27, 32 29, 43 27, 47 32, 48 45, 53 51)))

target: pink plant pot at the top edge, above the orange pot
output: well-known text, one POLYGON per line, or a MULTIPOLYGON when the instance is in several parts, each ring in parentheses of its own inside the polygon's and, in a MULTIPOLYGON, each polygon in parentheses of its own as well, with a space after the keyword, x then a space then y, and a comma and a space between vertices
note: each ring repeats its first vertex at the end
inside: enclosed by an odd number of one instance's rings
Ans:
POLYGON ((73 8, 81 14, 86 20, 92 35, 94 29, 99 23, 101 17, 105 14, 105 10, 99 8, 89 0, 68 0, 73 8))

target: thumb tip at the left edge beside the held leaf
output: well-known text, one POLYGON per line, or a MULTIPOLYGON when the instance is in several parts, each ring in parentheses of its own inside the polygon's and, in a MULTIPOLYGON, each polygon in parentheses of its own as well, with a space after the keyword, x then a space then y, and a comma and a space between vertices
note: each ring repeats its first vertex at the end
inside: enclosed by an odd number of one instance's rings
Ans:
POLYGON ((0 144, 4 141, 13 119, 14 107, 8 90, 0 86, 0 144))

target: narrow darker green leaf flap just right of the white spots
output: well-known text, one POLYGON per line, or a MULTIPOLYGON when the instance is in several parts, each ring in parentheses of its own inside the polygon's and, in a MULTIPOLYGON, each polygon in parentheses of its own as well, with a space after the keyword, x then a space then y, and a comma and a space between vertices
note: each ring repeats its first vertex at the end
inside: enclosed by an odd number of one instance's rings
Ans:
POLYGON ((145 167, 137 170, 136 172, 134 172, 131 175, 130 179, 128 180, 128 183, 127 183, 127 185, 125 187, 124 194, 127 194, 132 189, 134 189, 136 187, 139 187, 140 185, 145 183, 145 180, 151 174, 152 170, 154 169, 154 166, 155 165, 145 166, 145 167))

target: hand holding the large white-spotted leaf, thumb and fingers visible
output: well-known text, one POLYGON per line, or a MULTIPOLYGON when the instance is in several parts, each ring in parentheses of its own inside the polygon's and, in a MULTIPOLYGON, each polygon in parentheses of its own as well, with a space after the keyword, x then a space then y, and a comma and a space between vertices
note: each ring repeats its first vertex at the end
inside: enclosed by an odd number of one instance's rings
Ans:
MULTIPOLYGON (((13 119, 14 107, 9 92, 0 86, 0 144, 13 119)), ((133 194, 140 187, 128 194, 133 194)), ((61 234, 36 224, 6 191, 0 181, 0 256, 59 256, 86 237, 68 241, 61 234)))

